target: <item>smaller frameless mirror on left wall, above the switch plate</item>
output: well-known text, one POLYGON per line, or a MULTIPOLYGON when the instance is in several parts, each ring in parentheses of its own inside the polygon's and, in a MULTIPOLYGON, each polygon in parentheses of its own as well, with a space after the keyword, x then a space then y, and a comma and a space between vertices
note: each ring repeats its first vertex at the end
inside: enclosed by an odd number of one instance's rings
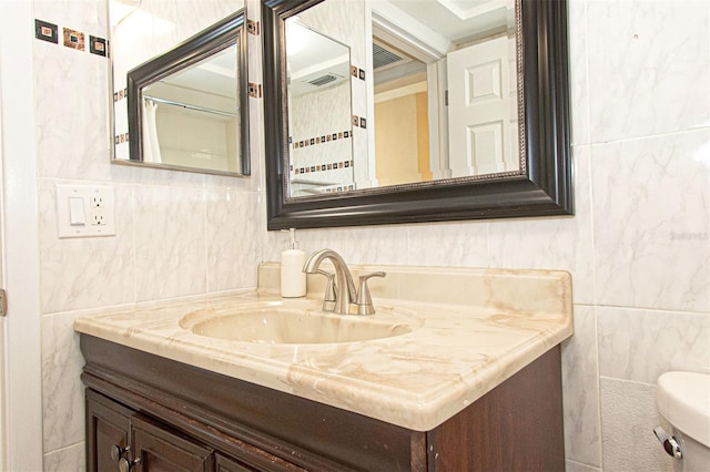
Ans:
POLYGON ((113 162, 248 175, 243 2, 110 1, 113 162))

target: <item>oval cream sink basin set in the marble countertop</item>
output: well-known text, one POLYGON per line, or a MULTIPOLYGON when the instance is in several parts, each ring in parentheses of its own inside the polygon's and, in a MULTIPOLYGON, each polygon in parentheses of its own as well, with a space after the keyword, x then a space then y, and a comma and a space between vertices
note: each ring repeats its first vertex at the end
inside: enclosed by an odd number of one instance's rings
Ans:
POLYGON ((210 338, 291 345, 389 338, 410 332, 420 325, 418 319, 400 316, 333 315, 284 307, 201 310, 186 315, 180 321, 182 328, 210 338))

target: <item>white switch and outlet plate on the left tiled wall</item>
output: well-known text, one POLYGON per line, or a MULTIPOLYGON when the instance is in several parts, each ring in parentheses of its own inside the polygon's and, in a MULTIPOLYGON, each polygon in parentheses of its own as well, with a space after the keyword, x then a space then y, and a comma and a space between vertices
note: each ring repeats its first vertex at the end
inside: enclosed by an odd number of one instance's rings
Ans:
POLYGON ((60 238, 115 235, 113 187, 57 185, 60 238))

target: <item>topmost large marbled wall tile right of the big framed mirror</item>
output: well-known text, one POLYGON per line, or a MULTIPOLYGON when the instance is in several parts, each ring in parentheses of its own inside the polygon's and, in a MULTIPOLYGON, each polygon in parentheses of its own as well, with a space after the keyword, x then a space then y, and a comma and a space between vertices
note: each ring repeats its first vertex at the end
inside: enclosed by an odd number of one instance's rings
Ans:
POLYGON ((587 1, 592 142, 710 122, 710 3, 587 1))

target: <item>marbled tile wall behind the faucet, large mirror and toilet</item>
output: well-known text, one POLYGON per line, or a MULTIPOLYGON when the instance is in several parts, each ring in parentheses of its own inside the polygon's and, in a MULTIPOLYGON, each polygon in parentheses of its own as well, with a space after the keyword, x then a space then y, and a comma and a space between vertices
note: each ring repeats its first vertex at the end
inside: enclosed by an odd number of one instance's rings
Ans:
MULTIPOLYGON (((572 274, 569 471, 670 471, 667 370, 710 372, 710 3, 570 0, 576 215, 303 230, 352 263, 572 274)), ((265 258, 276 260, 278 235, 265 258)))

